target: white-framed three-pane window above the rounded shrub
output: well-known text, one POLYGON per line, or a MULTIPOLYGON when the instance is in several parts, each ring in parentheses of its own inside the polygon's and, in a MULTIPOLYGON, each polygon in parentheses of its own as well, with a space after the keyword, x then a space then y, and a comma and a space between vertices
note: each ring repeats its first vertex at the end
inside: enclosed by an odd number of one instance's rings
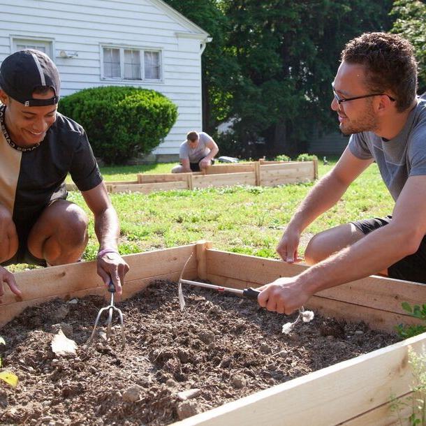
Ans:
POLYGON ((161 52, 103 47, 103 78, 161 80, 161 52))

